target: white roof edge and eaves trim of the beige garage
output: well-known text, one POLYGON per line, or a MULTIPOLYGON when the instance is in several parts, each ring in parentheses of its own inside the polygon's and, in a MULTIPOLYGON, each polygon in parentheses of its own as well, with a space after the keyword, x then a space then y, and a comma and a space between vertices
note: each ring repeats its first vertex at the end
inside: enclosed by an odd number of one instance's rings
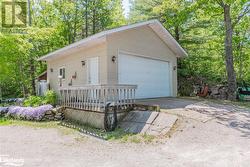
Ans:
MULTIPOLYGON (((169 38, 171 40, 171 42, 173 42, 173 45, 176 46, 175 48, 171 48, 173 51, 174 51, 174 49, 178 50, 177 52, 175 52, 177 54, 176 56, 177 57, 187 56, 186 51, 179 45, 179 43, 173 38, 173 36, 163 27, 163 25, 158 20, 149 20, 149 21, 142 22, 142 23, 136 23, 136 24, 122 26, 122 27, 111 29, 111 30, 107 30, 107 31, 102 31, 100 33, 97 33, 97 34, 92 35, 90 37, 87 37, 85 39, 82 39, 82 40, 80 40, 78 42, 70 44, 70 45, 68 45, 68 46, 66 46, 64 48, 58 49, 58 50, 56 50, 56 51, 54 51, 52 53, 49 53, 49 54, 47 54, 47 55, 39 58, 38 60, 39 61, 41 61, 41 60, 46 61, 46 60, 49 60, 49 59, 57 57, 61 53, 65 53, 68 49, 77 48, 79 46, 82 46, 83 44, 87 44, 89 42, 91 43, 91 42, 93 42, 94 40, 97 40, 97 39, 103 39, 103 37, 105 38, 107 35, 110 35, 110 34, 113 34, 113 33, 117 33, 117 32, 120 32, 120 31, 129 30, 129 29, 133 29, 133 28, 137 28, 137 27, 141 27, 141 26, 145 26, 145 25, 150 25, 151 28, 152 28, 152 25, 160 26, 160 29, 163 30, 164 34, 166 35, 166 38, 169 38)), ((155 31, 155 32, 157 33, 157 35, 160 36, 159 32, 157 32, 157 31, 155 31)), ((160 38, 162 38, 163 41, 167 45, 169 45, 169 43, 167 43, 166 40, 164 40, 164 37, 160 36, 160 38)))

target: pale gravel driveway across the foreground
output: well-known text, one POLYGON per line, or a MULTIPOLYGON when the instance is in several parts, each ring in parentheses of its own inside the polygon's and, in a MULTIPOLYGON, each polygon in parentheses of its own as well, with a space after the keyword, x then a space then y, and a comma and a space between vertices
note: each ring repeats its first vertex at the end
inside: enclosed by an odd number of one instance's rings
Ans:
POLYGON ((221 106, 207 112, 200 103, 189 110, 197 106, 213 119, 180 117, 169 139, 152 144, 102 141, 58 128, 0 126, 0 167, 249 167, 250 112, 221 106))

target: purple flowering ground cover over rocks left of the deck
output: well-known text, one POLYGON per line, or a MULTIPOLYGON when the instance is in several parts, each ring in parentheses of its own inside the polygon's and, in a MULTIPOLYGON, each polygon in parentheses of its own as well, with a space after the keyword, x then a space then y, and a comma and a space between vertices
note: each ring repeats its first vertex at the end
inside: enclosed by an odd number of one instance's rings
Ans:
POLYGON ((45 113, 52 110, 52 105, 43 105, 39 107, 9 107, 7 116, 19 119, 41 120, 45 113))

